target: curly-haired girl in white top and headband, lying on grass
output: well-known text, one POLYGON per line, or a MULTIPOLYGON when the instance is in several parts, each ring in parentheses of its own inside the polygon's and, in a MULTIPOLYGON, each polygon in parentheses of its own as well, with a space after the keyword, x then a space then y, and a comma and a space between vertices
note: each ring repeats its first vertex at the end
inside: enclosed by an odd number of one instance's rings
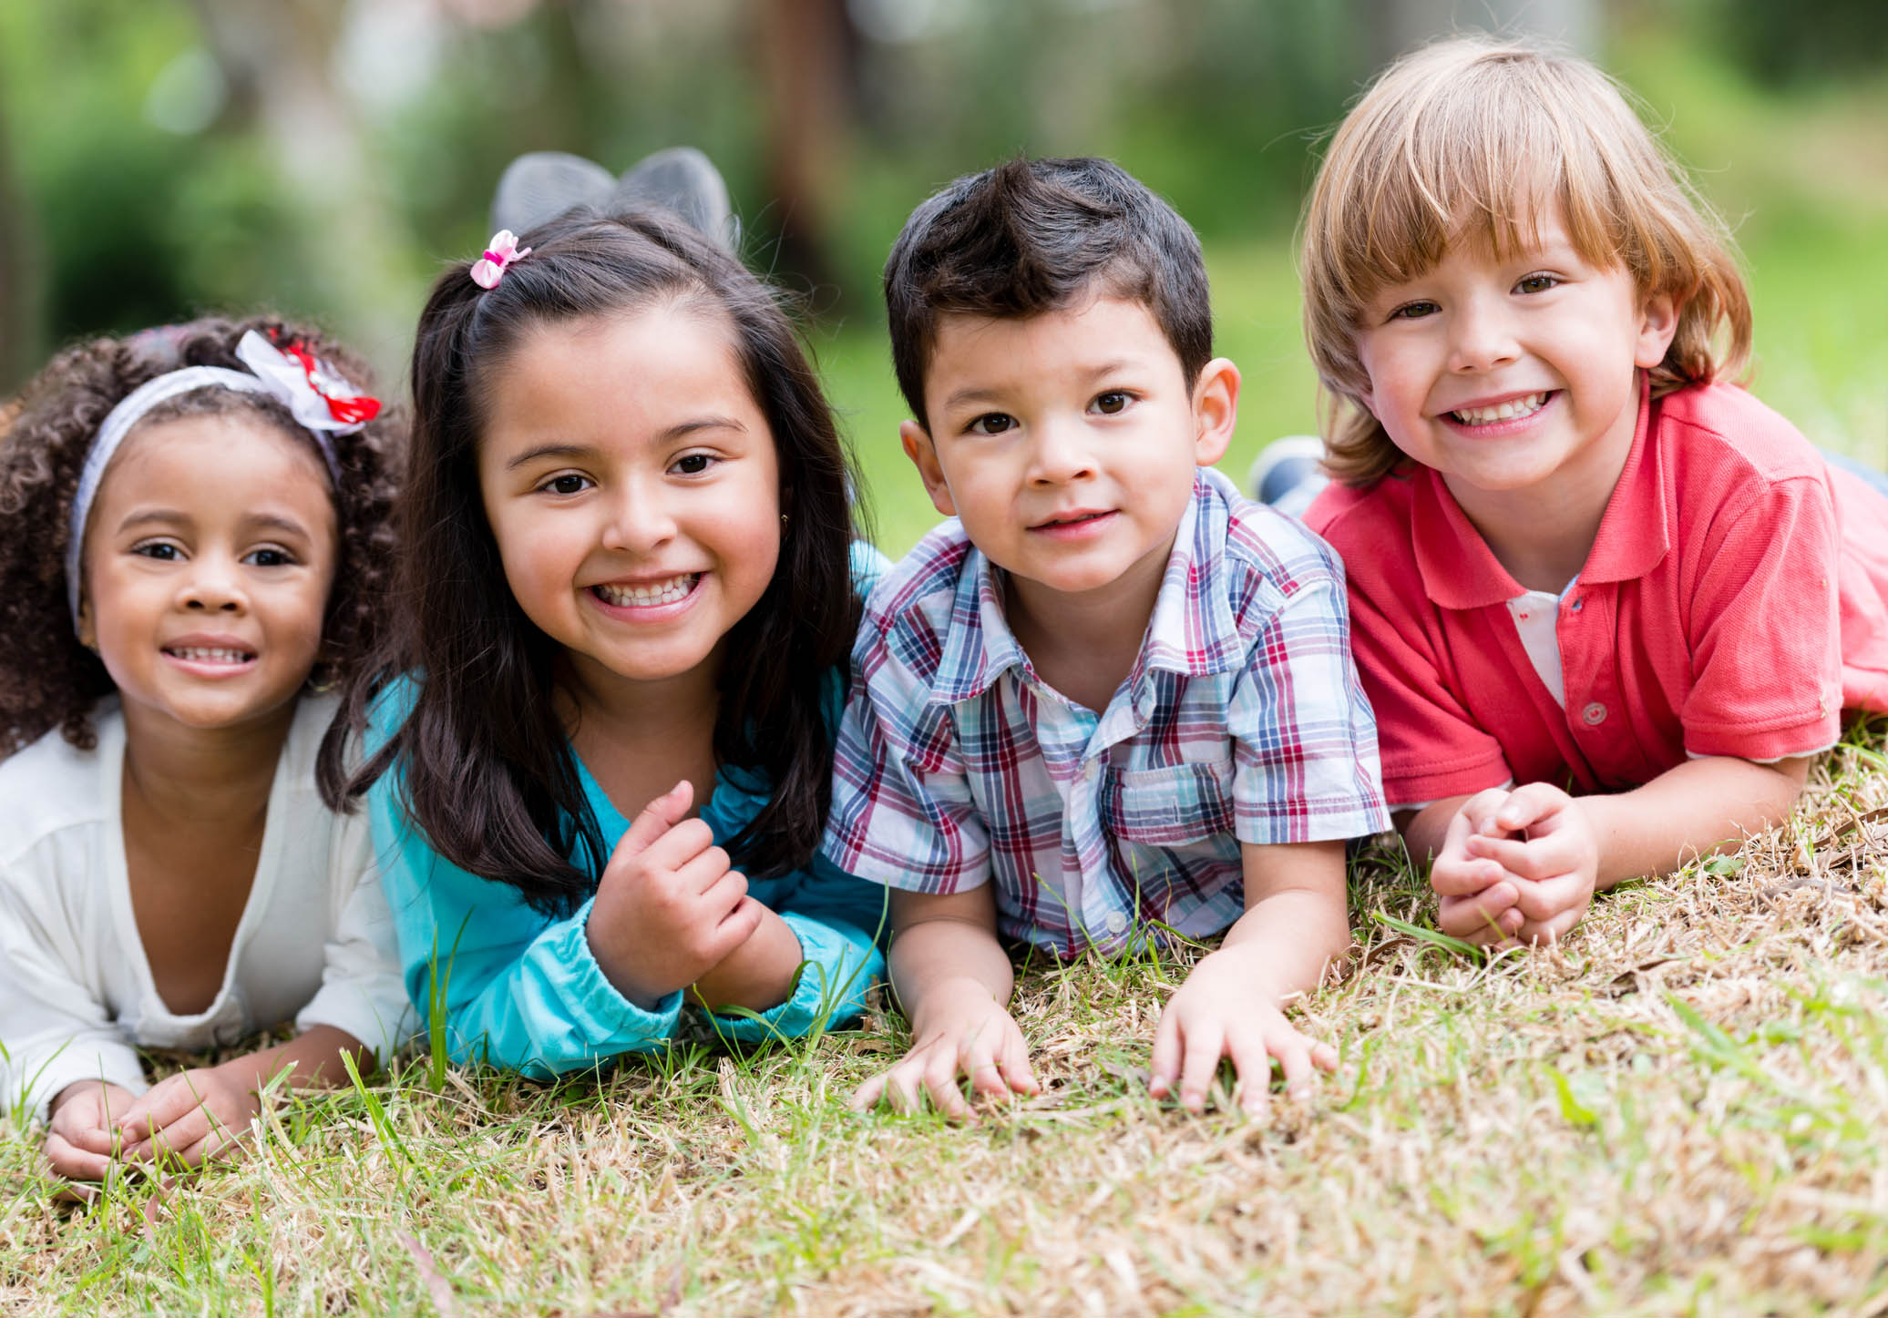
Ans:
POLYGON ((321 691, 378 638, 400 425, 270 319, 57 357, 0 444, 0 1095, 70 1180, 196 1165, 398 1042, 321 691), (138 1046, 291 1042, 147 1088, 138 1046))

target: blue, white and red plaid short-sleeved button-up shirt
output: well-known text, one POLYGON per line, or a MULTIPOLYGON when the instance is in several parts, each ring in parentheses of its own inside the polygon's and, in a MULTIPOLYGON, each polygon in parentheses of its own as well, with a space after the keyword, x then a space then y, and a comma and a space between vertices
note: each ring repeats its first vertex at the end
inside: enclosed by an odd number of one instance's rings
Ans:
POLYGON ((851 661, 827 855, 923 893, 995 878, 999 931, 1057 955, 1225 929, 1240 842, 1390 827, 1342 566, 1218 472, 1099 716, 1035 674, 957 521, 872 591, 851 661))

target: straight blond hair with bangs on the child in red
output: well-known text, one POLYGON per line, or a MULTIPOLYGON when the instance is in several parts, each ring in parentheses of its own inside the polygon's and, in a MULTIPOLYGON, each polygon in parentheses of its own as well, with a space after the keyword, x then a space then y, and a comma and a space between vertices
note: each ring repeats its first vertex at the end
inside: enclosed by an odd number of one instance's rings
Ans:
POLYGON ((1582 261, 1669 295, 1678 332, 1658 393, 1739 370, 1750 304, 1729 234, 1592 64, 1488 38, 1395 62, 1346 115, 1305 208, 1305 336, 1327 391, 1325 466, 1369 483, 1403 461, 1361 406, 1356 327, 1371 298, 1452 247, 1505 261, 1559 210, 1582 261), (1726 342, 1716 344, 1720 325, 1726 342))

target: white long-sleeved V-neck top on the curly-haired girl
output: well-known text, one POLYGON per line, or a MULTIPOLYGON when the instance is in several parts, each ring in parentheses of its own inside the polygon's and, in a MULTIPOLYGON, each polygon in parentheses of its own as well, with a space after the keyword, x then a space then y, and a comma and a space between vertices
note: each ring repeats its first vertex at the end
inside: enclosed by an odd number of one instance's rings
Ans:
POLYGON ((315 789, 334 701, 302 697, 276 763, 255 884, 215 1001, 159 997, 125 867, 125 718, 93 710, 98 746, 59 729, 0 763, 0 1116, 45 1118, 77 1080, 149 1086, 136 1046, 202 1050, 295 1020, 385 1057, 413 1029, 364 814, 315 789))

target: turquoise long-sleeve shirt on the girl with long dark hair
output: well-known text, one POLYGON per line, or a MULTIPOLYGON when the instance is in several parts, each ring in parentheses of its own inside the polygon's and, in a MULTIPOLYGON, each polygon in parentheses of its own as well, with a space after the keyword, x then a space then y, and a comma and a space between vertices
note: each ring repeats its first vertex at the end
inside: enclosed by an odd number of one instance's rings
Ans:
MULTIPOLYGON (((831 674, 829 725, 840 708, 831 674)), ((379 699, 368 729, 378 750, 412 704, 402 678, 379 699)), ((585 925, 591 903, 565 918, 532 910, 515 887, 478 878, 442 859, 406 820, 396 799, 398 765, 368 791, 368 818, 381 884, 393 906, 406 991, 430 1025, 434 955, 446 974, 446 1040, 453 1061, 483 1059, 532 1076, 583 1071, 625 1052, 661 1048, 676 1035, 682 993, 644 1010, 623 997, 591 954, 585 925), (434 952, 436 950, 436 952, 434 952)), ((578 761, 583 795, 615 848, 629 820, 578 761)), ((727 844, 767 804, 753 774, 721 770, 700 818, 727 844)), ((716 1016, 717 1031, 757 1042, 797 1037, 816 1023, 842 1025, 865 1006, 865 991, 884 976, 876 937, 889 927, 885 889, 842 874, 825 857, 782 878, 750 880, 748 893, 785 920, 801 940, 799 982, 787 1001, 759 1018, 716 1016)))

